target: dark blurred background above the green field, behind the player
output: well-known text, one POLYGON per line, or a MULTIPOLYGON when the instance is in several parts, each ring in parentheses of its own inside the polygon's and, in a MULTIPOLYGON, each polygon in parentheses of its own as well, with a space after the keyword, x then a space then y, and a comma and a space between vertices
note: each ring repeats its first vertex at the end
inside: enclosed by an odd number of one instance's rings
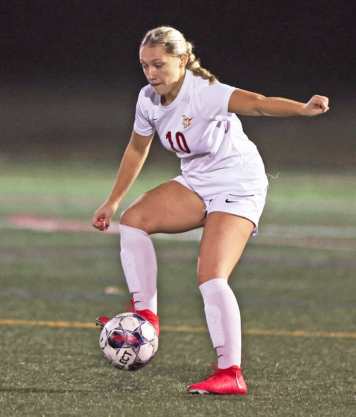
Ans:
MULTIPOLYGON (((241 117, 267 167, 355 167, 355 12, 352 1, 6 2, 1 158, 120 158, 147 83, 140 42, 171 25, 221 82, 330 98, 315 118, 241 117)), ((173 161, 155 142, 149 161, 173 161)))

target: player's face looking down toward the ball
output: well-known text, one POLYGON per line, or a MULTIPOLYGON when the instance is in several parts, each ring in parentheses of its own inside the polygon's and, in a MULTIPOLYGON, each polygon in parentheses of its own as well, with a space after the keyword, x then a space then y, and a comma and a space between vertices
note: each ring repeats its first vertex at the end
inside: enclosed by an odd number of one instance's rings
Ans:
POLYGON ((179 91, 185 74, 184 55, 183 57, 169 55, 163 46, 150 48, 145 45, 140 49, 143 72, 160 96, 175 95, 177 88, 179 91))

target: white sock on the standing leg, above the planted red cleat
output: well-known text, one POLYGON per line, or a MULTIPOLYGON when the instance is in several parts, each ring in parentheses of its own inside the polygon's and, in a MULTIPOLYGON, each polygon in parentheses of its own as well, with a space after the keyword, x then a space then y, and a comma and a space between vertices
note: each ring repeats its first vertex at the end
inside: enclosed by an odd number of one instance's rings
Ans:
POLYGON ((240 309, 228 281, 223 278, 206 281, 199 289, 219 369, 241 366, 240 309))

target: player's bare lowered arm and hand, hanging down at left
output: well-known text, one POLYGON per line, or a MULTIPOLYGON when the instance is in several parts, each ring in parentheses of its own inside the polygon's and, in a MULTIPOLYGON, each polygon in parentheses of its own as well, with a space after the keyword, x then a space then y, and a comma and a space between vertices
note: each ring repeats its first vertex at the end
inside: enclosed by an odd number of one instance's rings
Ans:
POLYGON ((132 130, 131 139, 120 164, 113 190, 108 200, 95 212, 93 226, 102 231, 109 228, 121 200, 135 181, 147 158, 153 134, 142 136, 132 130))

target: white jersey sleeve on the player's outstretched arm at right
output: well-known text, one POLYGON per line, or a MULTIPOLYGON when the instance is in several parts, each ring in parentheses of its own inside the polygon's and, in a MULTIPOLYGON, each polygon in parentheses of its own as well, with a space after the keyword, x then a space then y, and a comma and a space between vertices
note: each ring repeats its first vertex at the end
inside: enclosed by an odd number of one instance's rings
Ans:
POLYGON ((208 120, 228 121, 232 113, 228 112, 229 100, 236 87, 217 82, 205 84, 198 93, 198 108, 208 120))

